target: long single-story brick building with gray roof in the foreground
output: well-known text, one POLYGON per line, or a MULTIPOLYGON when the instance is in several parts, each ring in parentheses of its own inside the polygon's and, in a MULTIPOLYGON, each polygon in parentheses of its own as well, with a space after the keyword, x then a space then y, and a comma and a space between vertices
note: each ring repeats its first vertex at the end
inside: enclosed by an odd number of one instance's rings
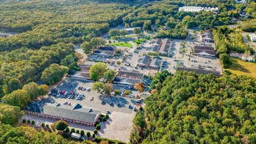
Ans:
POLYGON ((27 114, 41 117, 65 120, 94 126, 101 113, 97 110, 82 108, 80 104, 64 105, 61 103, 44 103, 43 101, 32 101, 25 109, 27 114))

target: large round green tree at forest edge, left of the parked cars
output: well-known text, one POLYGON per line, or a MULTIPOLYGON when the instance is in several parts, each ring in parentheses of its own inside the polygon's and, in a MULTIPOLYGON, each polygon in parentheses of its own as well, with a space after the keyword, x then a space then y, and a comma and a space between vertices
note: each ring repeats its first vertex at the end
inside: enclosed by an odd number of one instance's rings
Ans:
POLYGON ((43 71, 41 79, 45 81, 46 84, 55 84, 56 82, 60 81, 62 77, 64 77, 67 71, 69 71, 68 67, 60 66, 54 63, 43 71))

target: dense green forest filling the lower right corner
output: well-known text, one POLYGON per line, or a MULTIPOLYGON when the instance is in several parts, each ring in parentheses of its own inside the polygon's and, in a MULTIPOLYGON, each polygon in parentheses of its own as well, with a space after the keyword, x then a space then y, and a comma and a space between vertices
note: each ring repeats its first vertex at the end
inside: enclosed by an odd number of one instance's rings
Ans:
POLYGON ((256 79, 187 71, 158 78, 134 118, 132 143, 256 143, 256 79))

